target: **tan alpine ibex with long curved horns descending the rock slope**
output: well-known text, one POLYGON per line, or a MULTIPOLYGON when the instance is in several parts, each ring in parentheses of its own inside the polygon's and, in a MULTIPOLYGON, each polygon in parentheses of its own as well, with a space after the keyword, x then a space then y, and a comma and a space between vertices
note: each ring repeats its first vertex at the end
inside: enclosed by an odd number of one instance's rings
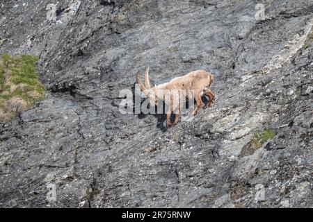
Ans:
MULTIPOLYGON (((177 99, 176 97, 179 94, 184 94, 187 99, 190 99, 192 96, 195 99, 196 105, 192 112, 193 115, 197 114, 198 110, 202 107, 202 95, 209 96, 208 103, 204 106, 204 108, 209 108, 211 102, 214 100, 214 94, 209 89, 211 84, 214 81, 214 76, 207 71, 197 70, 192 71, 185 76, 173 78, 168 83, 163 83, 161 85, 155 85, 154 87, 150 86, 149 80, 149 67, 145 71, 145 84, 141 83, 141 79, 139 77, 139 71, 136 74, 136 82, 138 83, 141 91, 147 96, 150 101, 150 105, 157 105, 158 99, 162 99, 165 103, 168 104, 169 109, 166 112, 166 127, 169 128, 172 126, 170 121, 170 115, 172 112, 175 113, 175 121, 174 124, 178 122, 179 115, 181 113, 181 105, 173 105, 173 100, 177 99), (161 93, 160 93, 161 92, 161 93), (164 93, 165 92, 165 93, 164 93), (179 92, 179 94, 177 94, 179 92), (161 98, 159 96, 161 95, 161 98), (167 100, 166 100, 167 98, 167 100)), ((192 98, 191 98, 192 99, 192 98)), ((180 102, 179 102, 180 103, 180 102)))

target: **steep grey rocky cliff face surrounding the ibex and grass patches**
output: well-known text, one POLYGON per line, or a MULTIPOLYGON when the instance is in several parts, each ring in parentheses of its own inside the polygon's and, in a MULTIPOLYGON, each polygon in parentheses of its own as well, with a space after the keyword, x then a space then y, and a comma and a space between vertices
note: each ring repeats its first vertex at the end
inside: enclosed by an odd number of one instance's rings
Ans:
POLYGON ((0 53, 40 56, 45 101, 0 128, 0 207, 313 207, 312 0, 0 3, 0 53), (121 114, 136 71, 215 76, 165 130, 121 114), (257 148, 255 133, 275 130, 257 148))

